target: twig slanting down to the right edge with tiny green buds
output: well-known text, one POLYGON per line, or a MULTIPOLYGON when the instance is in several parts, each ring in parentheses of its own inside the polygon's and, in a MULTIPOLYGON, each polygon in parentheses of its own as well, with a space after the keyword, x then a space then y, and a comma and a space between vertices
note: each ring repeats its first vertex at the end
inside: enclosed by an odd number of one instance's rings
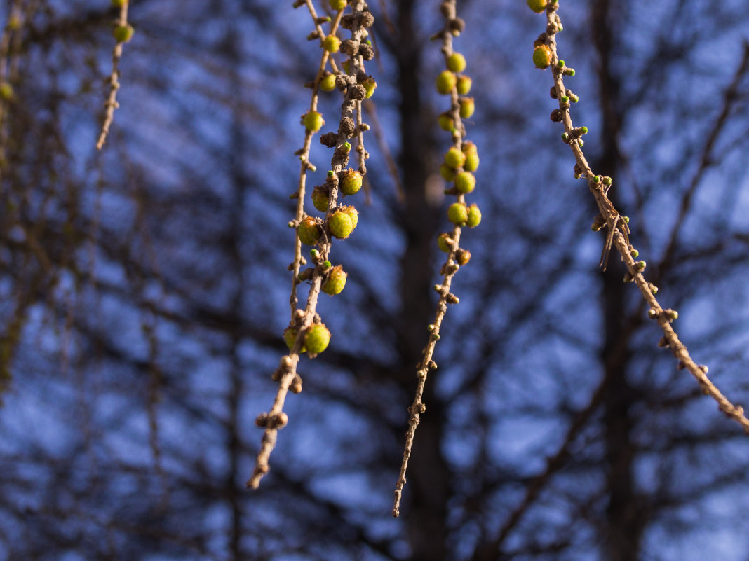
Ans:
POLYGON ((708 367, 695 363, 689 355, 687 347, 679 340, 676 331, 674 331, 671 325, 679 317, 679 314, 676 310, 664 309, 658 304, 658 300, 655 298, 658 287, 646 281, 643 275, 646 262, 643 260, 636 261, 639 251, 629 242, 629 219, 619 214, 607 197, 612 183, 611 178, 593 174, 585 159, 582 150, 584 143, 580 137, 585 135, 588 129, 584 126, 575 127, 573 125, 570 106, 571 102, 577 102, 578 98, 564 85, 564 77, 574 76, 574 69, 567 67, 565 61, 560 60, 557 55, 557 33, 562 31, 562 22, 557 13, 559 1, 530 0, 529 5, 532 8, 534 6, 540 8, 534 11, 540 13, 545 10, 546 13, 546 31, 534 43, 533 61, 536 67, 542 69, 551 67, 552 69, 554 87, 551 88, 551 96, 558 100, 559 108, 552 111, 551 120, 563 124, 565 132, 562 133, 562 141, 568 144, 574 155, 576 162, 574 166, 575 177, 584 177, 586 179, 588 188, 598 205, 600 214, 593 223, 593 229, 601 230, 603 227, 607 228, 608 235, 601 256, 601 267, 605 269, 610 248, 612 246, 615 247, 627 268, 625 281, 634 281, 637 284, 637 288, 640 289, 644 300, 649 304, 649 318, 658 322, 658 325, 661 326, 664 332, 664 337, 661 338, 658 346, 669 348, 674 357, 679 361, 679 370, 688 370, 697 379, 697 383, 700 384, 700 389, 703 393, 715 399, 718 402, 718 408, 727 417, 739 423, 745 432, 749 434, 749 419, 745 416, 744 408, 740 405, 734 405, 718 390, 718 387, 715 387, 715 384, 707 376, 708 367))

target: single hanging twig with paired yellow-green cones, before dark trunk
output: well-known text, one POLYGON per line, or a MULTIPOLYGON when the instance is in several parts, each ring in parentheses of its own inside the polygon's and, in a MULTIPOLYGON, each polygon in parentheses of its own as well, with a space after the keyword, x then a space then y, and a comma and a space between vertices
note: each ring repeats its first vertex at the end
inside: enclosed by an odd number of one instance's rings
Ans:
POLYGON ((473 97, 466 96, 470 91, 471 79, 462 74, 466 67, 464 56, 452 49, 452 37, 457 37, 463 31, 465 23, 456 16, 455 0, 443 1, 440 10, 445 18, 445 27, 432 38, 442 40, 441 50, 447 70, 437 76, 437 91, 450 96, 450 108, 449 111, 440 114, 438 122, 442 129, 452 132, 452 147, 445 154, 445 163, 440 167, 440 174, 446 181, 454 182, 454 186, 446 189, 445 194, 453 194, 457 200, 447 210, 447 218, 454 224, 452 232, 441 233, 437 238, 437 245, 447 253, 447 260, 440 269, 440 275, 443 276, 442 283, 434 285, 434 290, 440 295, 440 299, 437 301, 434 322, 428 325, 430 336, 423 351, 424 358, 416 366, 418 378, 416 396, 408 408, 410 417, 401 472, 395 485, 395 500, 392 507, 392 515, 395 517, 400 514, 401 495, 406 484, 406 470, 413 449, 416 427, 419 426, 420 415, 426 411, 426 406, 422 401, 426 378, 429 370, 437 368, 432 357, 437 341, 440 339, 440 327, 447 313, 447 304, 458 304, 458 297, 450 292, 452 277, 462 265, 466 265, 470 260, 470 252, 460 248, 461 229, 463 226, 476 227, 481 222, 479 207, 475 203, 470 206, 465 203, 465 194, 470 193, 476 187, 473 172, 479 166, 476 145, 465 140, 466 132, 463 126, 463 119, 471 117, 474 110, 473 97))

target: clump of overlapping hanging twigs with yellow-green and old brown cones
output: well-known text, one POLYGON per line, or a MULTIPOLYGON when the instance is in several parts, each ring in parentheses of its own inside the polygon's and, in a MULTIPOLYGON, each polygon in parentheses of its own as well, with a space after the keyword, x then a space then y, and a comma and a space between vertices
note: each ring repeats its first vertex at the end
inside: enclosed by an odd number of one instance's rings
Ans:
POLYGON ((276 446, 278 431, 288 423, 288 416, 283 412, 283 405, 289 390, 299 393, 302 390, 302 378, 297 373, 297 365, 300 361, 300 353, 307 352, 309 358, 314 358, 323 352, 330 341, 330 331, 321 322, 317 313, 317 304, 320 292, 335 295, 339 294, 345 286, 346 273, 341 266, 332 266, 328 257, 333 238, 346 239, 357 226, 358 212, 354 206, 345 206, 339 203, 339 194, 353 195, 360 190, 363 177, 366 175, 366 159, 369 157, 364 148, 363 132, 369 130, 369 126, 362 120, 362 101, 372 96, 377 84, 372 76, 366 74, 364 61, 374 57, 374 50, 367 40, 369 31, 375 19, 369 11, 369 7, 363 0, 355 0, 347 4, 346 0, 332 0, 331 6, 337 10, 336 17, 331 22, 329 17, 320 17, 315 11, 312 0, 297 0, 294 7, 306 5, 309 9, 315 31, 309 35, 309 40, 320 40, 323 55, 318 67, 315 81, 312 82, 312 102, 309 111, 302 116, 302 123, 306 128, 304 146, 297 151, 301 162, 299 184, 297 191, 291 194, 297 199, 297 215, 289 226, 296 228, 296 245, 294 250, 294 262, 289 269, 293 272, 291 283, 291 322, 284 331, 284 338, 289 346, 290 352, 281 358, 279 367, 273 373, 273 380, 279 382, 276 398, 273 406, 267 413, 261 413, 255 420, 255 424, 264 428, 261 447, 255 461, 255 469, 252 471, 246 485, 249 488, 257 488, 262 477, 270 470, 268 464, 270 453, 276 446), (343 14, 347 5, 351 6, 351 13, 343 14), (321 24, 330 22, 330 33, 324 34, 321 24), (351 38, 345 41, 336 36, 339 24, 342 28, 351 31, 351 38), (330 53, 342 51, 349 56, 348 61, 343 63, 342 73, 336 67, 330 53), (330 64, 333 73, 327 72, 326 65, 330 64), (338 132, 327 132, 321 135, 321 144, 333 148, 333 158, 330 162, 330 171, 327 172, 327 180, 323 186, 315 187, 312 191, 312 202, 316 209, 325 212, 325 218, 315 218, 304 212, 304 197, 306 191, 306 177, 308 171, 316 168, 309 162, 309 147, 312 135, 324 126, 322 114, 317 111, 318 91, 333 91, 338 88, 343 93, 341 106, 341 118, 338 132), (357 153, 359 154, 359 168, 352 170, 348 168, 351 138, 357 138, 357 153), (315 248, 309 252, 312 267, 300 272, 300 267, 306 264, 302 257, 302 244, 314 245, 315 248), (303 281, 309 281, 311 287, 307 296, 304 309, 297 308, 298 296, 297 286, 303 281))

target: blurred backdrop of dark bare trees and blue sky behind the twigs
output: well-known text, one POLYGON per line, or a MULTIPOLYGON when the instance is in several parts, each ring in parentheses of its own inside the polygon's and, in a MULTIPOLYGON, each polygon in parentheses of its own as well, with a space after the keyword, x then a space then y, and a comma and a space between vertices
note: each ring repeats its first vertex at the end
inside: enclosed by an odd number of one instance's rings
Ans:
MULTIPOLYGON (((521 0, 458 2, 484 220, 461 243, 473 259, 390 517, 443 258, 449 135, 437 3, 371 7, 369 202, 333 248, 349 277, 321 302, 331 346, 303 360, 272 471, 249 492, 253 420, 285 352, 288 195, 319 60, 309 13, 133 1, 98 153, 116 10, 4 4, 2 21, 20 19, 1 67, 0 558, 749 559, 749 441, 657 348, 618 260, 597 269, 597 211, 548 120, 551 73, 530 58, 544 22, 521 0)), ((592 167, 614 178, 682 340, 742 402, 745 3, 561 10, 592 167)), ((323 94, 324 115, 337 96, 323 94)), ((329 157, 315 141, 315 183, 329 157)))

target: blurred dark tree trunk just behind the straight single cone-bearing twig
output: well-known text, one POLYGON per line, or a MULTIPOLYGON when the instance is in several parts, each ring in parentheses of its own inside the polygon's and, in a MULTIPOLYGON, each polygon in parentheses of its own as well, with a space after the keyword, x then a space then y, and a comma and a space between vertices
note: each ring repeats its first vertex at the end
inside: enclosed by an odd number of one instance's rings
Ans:
MULTIPOLYGON (((421 46, 413 20, 413 0, 401 1, 398 12, 398 88, 401 117, 400 168, 403 171, 404 206, 399 225, 406 236, 401 259, 401 316, 398 322, 398 351, 403 370, 401 385, 408 393, 416 388, 416 363, 427 343, 426 326, 434 318, 431 285, 434 275, 435 236, 441 213, 425 197, 432 141, 422 114, 418 76, 421 46)), ((443 414, 434 396, 434 379, 424 394, 426 412, 416 432, 407 473, 404 497, 413 561, 446 559, 447 472, 440 451, 443 414)))

